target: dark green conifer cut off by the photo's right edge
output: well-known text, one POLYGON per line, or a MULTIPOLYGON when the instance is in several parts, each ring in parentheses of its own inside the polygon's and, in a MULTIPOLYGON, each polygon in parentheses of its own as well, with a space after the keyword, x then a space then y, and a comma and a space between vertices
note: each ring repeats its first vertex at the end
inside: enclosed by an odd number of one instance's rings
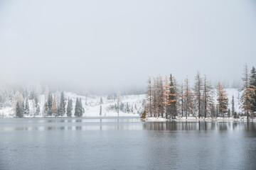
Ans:
POLYGON ((252 93, 252 101, 251 101, 251 111, 252 113, 256 112, 256 69, 255 67, 252 67, 252 70, 250 72, 250 88, 253 89, 252 93))

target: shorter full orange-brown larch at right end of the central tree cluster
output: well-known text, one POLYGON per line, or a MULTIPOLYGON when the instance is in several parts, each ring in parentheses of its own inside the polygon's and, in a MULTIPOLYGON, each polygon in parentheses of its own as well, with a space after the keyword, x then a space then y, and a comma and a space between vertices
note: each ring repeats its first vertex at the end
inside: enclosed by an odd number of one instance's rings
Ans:
POLYGON ((228 97, 223 85, 218 82, 217 86, 217 108, 220 116, 224 116, 224 113, 228 113, 228 97))

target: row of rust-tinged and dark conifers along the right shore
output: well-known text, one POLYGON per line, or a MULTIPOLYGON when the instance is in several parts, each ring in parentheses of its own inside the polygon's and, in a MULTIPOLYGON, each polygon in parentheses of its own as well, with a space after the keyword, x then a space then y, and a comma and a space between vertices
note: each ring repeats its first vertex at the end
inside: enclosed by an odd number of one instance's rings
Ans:
MULTIPOLYGON (((243 85, 240 92, 242 114, 252 115, 256 111, 256 72, 255 67, 249 72, 247 64, 243 72, 243 85)), ((235 111, 234 96, 232 109, 228 106, 228 95, 223 85, 218 82, 214 89, 206 75, 197 72, 191 87, 188 77, 181 84, 170 75, 164 81, 161 75, 149 77, 146 89, 146 115, 149 117, 176 118, 190 115, 201 117, 230 117, 238 118, 235 111), (217 96, 215 101, 215 96, 217 96)))

